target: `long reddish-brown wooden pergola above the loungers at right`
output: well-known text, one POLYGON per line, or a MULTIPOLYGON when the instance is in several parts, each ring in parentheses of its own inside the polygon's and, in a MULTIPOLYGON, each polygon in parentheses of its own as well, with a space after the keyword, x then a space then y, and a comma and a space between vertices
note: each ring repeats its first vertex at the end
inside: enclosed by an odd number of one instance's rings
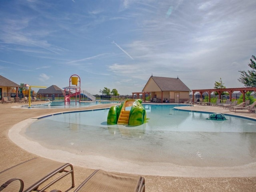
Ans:
POLYGON ((203 93, 207 92, 209 95, 209 102, 211 102, 211 93, 212 92, 218 92, 219 94, 219 99, 221 99, 221 94, 223 92, 228 92, 229 93, 229 98, 232 97, 232 93, 234 91, 240 91, 243 94, 243 102, 245 102, 245 94, 248 91, 254 91, 256 92, 256 87, 242 87, 242 88, 226 88, 226 89, 198 89, 198 90, 192 90, 193 93, 193 102, 194 102, 194 94, 196 92, 200 93, 200 98, 203 98, 203 93))

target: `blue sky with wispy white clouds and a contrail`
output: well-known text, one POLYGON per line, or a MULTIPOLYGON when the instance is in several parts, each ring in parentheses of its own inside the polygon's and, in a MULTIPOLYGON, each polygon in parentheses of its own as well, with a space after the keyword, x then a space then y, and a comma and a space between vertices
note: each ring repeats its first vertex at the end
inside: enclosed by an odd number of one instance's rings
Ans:
POLYGON ((3 0, 0 75, 63 88, 77 74, 91 94, 140 92, 152 74, 243 87, 255 15, 255 0, 3 0))

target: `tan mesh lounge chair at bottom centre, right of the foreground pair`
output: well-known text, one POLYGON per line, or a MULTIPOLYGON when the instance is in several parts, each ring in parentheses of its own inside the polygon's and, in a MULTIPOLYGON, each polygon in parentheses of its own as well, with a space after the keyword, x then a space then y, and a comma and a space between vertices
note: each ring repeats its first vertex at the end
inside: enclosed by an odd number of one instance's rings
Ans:
POLYGON ((96 170, 74 192, 145 192, 145 179, 142 176, 96 170))

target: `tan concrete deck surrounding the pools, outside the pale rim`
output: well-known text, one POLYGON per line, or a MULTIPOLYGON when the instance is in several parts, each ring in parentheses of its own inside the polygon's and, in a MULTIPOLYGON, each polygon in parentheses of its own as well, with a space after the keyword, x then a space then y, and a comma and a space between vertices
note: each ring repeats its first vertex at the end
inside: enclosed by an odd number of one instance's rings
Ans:
MULTIPOLYGON (((33 104, 39 104, 42 102, 33 102, 33 104)), ((21 109, 13 108, 13 106, 19 106, 21 104, 0 104, 1 111, 1 148, 2 156, 0 158, 0 171, 9 168, 15 164, 36 157, 36 154, 29 153, 16 144, 14 144, 8 137, 8 131, 12 126, 19 122, 42 116, 45 114, 58 113, 62 111, 74 111, 81 110, 81 108, 66 108, 66 109, 21 109)), ((110 107, 114 104, 102 104, 102 106, 90 106, 86 109, 95 109, 100 107, 110 107)), ((179 107, 180 108, 180 107, 179 107)), ((184 106, 183 109, 192 111, 205 111, 205 112, 221 112, 227 114, 236 114, 246 116, 250 118, 256 118, 256 114, 246 113, 246 111, 240 111, 239 113, 229 112, 229 110, 223 109, 222 107, 214 106, 184 106)), ((68 162, 68 160, 66 161, 68 162)), ((84 168, 80 166, 74 166, 75 172, 75 183, 78 186, 86 177, 88 177, 94 170, 84 168)), ((195 174, 196 175, 196 174, 195 174)), ((219 192, 219 191, 245 191, 250 192, 255 190, 256 186, 256 170, 255 176, 252 177, 232 177, 232 178, 199 178, 199 177, 176 177, 176 176, 144 176, 146 180, 146 191, 204 191, 204 192, 219 192)), ((69 187, 69 183, 60 181, 52 189, 63 190, 69 187)), ((71 189, 70 192, 74 191, 71 189)))

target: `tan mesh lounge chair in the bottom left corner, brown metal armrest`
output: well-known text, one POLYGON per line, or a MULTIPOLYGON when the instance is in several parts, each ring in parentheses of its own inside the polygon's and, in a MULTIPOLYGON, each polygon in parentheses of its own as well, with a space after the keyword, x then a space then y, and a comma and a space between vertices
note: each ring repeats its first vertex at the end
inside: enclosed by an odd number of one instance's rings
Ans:
POLYGON ((33 158, 0 172, 0 191, 43 192, 68 174, 71 174, 70 183, 74 187, 74 170, 71 164, 33 158), (38 189, 39 186, 42 188, 38 189))

